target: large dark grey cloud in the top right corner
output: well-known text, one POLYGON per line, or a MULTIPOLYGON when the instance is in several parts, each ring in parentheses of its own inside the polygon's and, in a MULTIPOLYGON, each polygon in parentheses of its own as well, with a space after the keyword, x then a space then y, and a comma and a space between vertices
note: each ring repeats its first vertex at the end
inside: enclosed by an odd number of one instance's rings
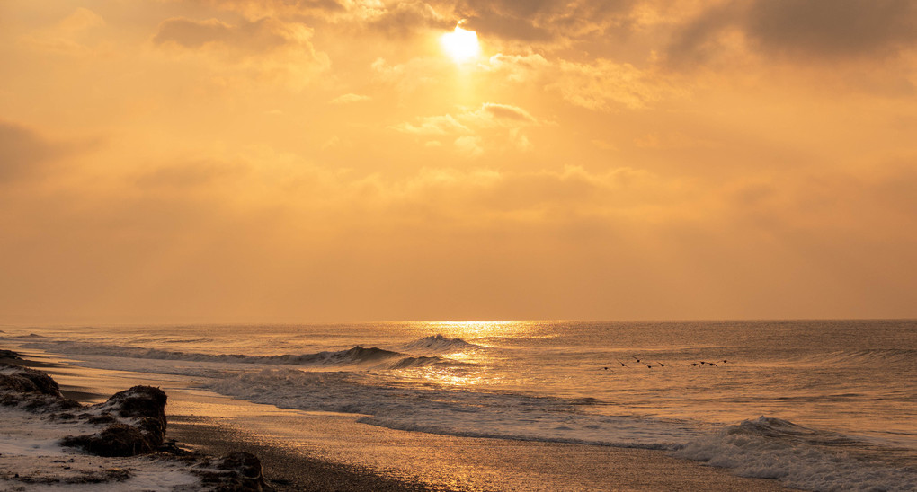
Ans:
POLYGON ((724 49, 729 29, 771 57, 841 60, 887 57, 917 45, 917 3, 911 0, 736 0, 716 5, 682 26, 668 61, 689 65, 724 49))

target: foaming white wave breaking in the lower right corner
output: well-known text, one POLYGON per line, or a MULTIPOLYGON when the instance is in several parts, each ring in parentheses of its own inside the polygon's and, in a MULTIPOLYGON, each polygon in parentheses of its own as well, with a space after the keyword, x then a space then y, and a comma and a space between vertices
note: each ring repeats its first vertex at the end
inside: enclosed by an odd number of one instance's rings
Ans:
POLYGON ((679 446, 679 458, 730 468, 735 475, 779 480, 808 490, 917 490, 910 466, 857 453, 860 442, 790 421, 759 417, 679 446))

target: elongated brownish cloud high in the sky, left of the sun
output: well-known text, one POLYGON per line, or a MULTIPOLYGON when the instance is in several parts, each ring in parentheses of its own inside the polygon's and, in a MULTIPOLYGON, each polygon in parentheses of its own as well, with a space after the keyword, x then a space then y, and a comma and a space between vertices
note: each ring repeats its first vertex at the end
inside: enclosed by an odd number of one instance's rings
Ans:
POLYGON ((172 18, 160 24, 153 42, 175 43, 188 49, 218 44, 237 49, 264 51, 304 43, 309 32, 301 24, 287 24, 270 17, 242 21, 235 26, 217 19, 197 21, 172 18))

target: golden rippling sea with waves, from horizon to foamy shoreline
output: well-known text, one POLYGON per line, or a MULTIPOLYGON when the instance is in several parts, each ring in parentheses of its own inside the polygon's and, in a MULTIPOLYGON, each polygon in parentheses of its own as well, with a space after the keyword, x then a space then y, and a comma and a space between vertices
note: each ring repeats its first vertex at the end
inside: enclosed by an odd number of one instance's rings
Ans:
POLYGON ((3 327, 414 432, 668 450, 809 490, 917 490, 917 321, 3 327))

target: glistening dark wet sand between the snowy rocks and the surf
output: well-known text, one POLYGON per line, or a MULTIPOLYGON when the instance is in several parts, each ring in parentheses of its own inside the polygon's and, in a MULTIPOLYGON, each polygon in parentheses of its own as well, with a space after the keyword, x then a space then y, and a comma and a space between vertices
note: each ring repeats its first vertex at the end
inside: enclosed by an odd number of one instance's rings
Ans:
POLYGON ((664 451, 393 431, 334 414, 171 422, 182 443, 260 455, 282 490, 788 490, 664 451))

